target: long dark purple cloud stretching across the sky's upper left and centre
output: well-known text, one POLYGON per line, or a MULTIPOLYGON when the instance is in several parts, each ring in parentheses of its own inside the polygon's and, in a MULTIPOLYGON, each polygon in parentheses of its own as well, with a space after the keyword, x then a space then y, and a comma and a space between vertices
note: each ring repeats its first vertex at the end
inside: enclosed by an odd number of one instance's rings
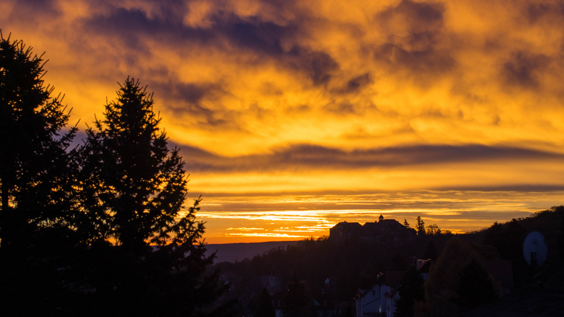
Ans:
MULTIPOLYGON (((109 14, 96 14, 85 21, 90 32, 104 32, 119 36, 126 46, 135 50, 143 47, 143 37, 166 40, 174 46, 189 46, 191 43, 213 46, 215 49, 232 50, 222 39, 239 51, 253 52, 260 59, 273 59, 283 68, 305 73, 314 83, 327 83, 332 72, 338 69, 337 62, 327 52, 312 50, 294 43, 284 50, 281 42, 294 42, 299 33, 299 20, 287 25, 264 21, 259 16, 237 16, 233 12, 214 12, 209 16, 209 27, 190 27, 183 24, 185 6, 176 5, 177 10, 161 6, 161 11, 149 16, 141 8, 109 7, 109 14), (162 13, 164 12, 164 13, 162 13)), ((238 54, 238 53, 237 53, 238 54)))

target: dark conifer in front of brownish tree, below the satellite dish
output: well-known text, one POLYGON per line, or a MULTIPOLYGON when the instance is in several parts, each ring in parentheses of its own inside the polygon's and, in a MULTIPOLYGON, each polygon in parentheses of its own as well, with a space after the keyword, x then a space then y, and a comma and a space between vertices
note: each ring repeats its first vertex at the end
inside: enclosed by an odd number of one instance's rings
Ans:
POLYGON ((457 293, 461 310, 473 309, 498 297, 486 268, 479 265, 475 259, 460 270, 459 276, 460 283, 457 293))

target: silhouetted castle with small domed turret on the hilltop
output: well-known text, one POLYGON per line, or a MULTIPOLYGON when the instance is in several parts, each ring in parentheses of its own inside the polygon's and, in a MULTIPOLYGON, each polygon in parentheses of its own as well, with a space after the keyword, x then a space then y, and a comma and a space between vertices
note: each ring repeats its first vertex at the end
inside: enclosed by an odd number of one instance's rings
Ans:
POLYGON ((358 222, 340 222, 329 229, 329 240, 336 243, 359 241, 387 245, 402 245, 415 239, 417 231, 406 228, 395 219, 384 219, 380 215, 378 221, 367 222, 362 226, 358 222))

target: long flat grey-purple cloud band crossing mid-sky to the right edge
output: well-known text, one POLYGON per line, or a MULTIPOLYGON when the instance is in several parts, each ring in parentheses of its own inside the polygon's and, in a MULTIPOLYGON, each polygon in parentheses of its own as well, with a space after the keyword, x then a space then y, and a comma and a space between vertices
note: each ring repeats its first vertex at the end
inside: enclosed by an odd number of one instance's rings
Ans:
POLYGON ((293 146, 270 155, 222 157, 199 148, 182 146, 188 170, 248 171, 284 170, 296 168, 356 169, 374 166, 392 167, 448 162, 477 162, 486 160, 527 160, 535 158, 564 159, 563 155, 531 149, 510 147, 468 146, 412 146, 351 152, 321 146, 293 146))

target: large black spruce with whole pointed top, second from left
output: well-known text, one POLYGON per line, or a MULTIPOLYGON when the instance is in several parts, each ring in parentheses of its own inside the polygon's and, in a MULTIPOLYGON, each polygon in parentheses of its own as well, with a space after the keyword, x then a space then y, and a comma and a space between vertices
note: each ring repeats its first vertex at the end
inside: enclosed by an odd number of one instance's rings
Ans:
MULTIPOLYGON (((90 309, 102 315, 193 316, 222 294, 204 224, 183 212, 187 175, 169 150, 153 99, 127 78, 80 149, 83 208, 91 227, 90 309), (113 244, 113 245, 112 245, 113 244)), ((229 314, 225 306, 215 315, 229 314)))

